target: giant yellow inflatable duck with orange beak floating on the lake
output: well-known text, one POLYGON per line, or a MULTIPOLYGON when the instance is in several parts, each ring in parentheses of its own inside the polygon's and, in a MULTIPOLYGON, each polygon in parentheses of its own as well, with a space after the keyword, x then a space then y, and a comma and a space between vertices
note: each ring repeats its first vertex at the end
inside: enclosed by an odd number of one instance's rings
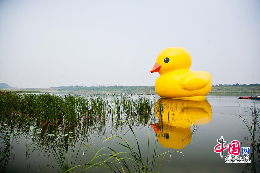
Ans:
POLYGON ((205 99, 212 87, 212 77, 206 71, 190 70, 190 53, 181 47, 162 50, 150 71, 160 74, 155 92, 164 98, 205 99))

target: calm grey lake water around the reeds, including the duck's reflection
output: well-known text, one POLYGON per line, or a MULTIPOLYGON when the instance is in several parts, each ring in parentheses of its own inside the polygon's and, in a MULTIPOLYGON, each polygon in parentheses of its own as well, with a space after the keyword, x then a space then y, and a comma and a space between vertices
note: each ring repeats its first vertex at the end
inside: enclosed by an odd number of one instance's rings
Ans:
MULTIPOLYGON (((238 140, 242 147, 250 147, 249 156, 252 155, 250 135, 238 115, 242 115, 250 122, 252 116, 248 110, 254 105, 259 108, 260 100, 238 99, 236 94, 208 95, 203 101, 162 99, 158 96, 156 100, 157 105, 163 103, 167 105, 167 108, 164 107, 161 114, 155 113, 155 117, 108 115, 106 119, 93 119, 91 122, 71 127, 43 127, 40 124, 26 127, 27 124, 16 124, 14 137, 10 139, 10 156, 2 157, 0 170, 1 172, 57 172, 55 170, 57 169, 62 172, 61 163, 66 163, 65 165, 71 168, 73 165, 87 163, 93 158, 94 154, 90 149, 82 157, 83 144, 81 142, 90 145, 96 152, 105 146, 109 146, 117 152, 127 151, 125 147, 116 143, 124 142, 120 138, 112 137, 101 144, 103 140, 112 135, 124 138, 138 151, 129 127, 120 127, 128 122, 136 135, 140 151, 146 158, 148 148, 149 153, 153 153, 157 142, 157 155, 169 150, 183 153, 167 153, 162 163, 162 157, 160 157, 158 163, 155 163, 158 167, 161 164, 160 172, 260 172, 257 151, 251 158, 252 163, 247 164, 225 163, 225 159, 220 157, 220 153, 215 153, 213 150, 218 144, 217 140, 223 136, 226 144, 238 140), (161 117, 162 113, 163 117, 161 117), (18 130, 21 132, 18 133, 18 130), (37 134, 37 132, 40 133, 37 134), (30 135, 31 133, 34 134, 30 135), (47 134, 55 136, 49 137, 47 134), (64 134, 68 134, 68 136, 64 134), (148 136, 150 138, 149 147, 148 136), (53 152, 57 151, 57 148, 64 153, 69 152, 59 155, 59 152, 53 152)), ((8 129, 7 126, 3 125, 0 128, 3 131, 4 128, 8 129)), ((259 133, 257 133, 258 137, 259 133)), ((5 148, 3 145, 4 142, 1 141, 1 148, 5 148)), ((84 146, 83 151, 85 152, 86 149, 87 147, 84 146)), ((102 153, 112 154, 108 148, 102 150, 102 153)), ((225 155, 228 155, 228 150, 224 151, 225 155)), ((152 156, 149 156, 149 159, 151 158, 152 156)), ((106 168, 94 168, 90 168, 88 171, 113 172, 106 168)), ((115 171, 122 172, 122 168, 115 171)), ((125 170, 125 172, 127 171, 125 170)))

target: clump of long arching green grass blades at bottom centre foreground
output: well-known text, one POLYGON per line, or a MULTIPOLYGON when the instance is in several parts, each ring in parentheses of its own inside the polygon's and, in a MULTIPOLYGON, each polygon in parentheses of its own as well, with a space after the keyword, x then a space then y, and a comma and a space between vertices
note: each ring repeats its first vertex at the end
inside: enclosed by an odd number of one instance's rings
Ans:
MULTIPOLYGON (((122 125, 123 127, 125 125, 122 125)), ((138 142, 138 139, 135 136, 135 133, 131 127, 130 124, 127 124, 129 129, 131 130, 133 137, 135 138, 136 143, 134 144, 137 146, 137 148, 134 148, 131 146, 127 140, 120 136, 110 136, 109 138, 105 139, 103 142, 109 140, 110 138, 119 138, 122 142, 116 142, 123 148, 125 148, 126 151, 121 151, 117 152, 115 149, 111 147, 103 147, 100 148, 99 151, 95 152, 92 148, 90 148, 89 145, 83 144, 83 146, 87 147, 87 150, 90 150, 94 153, 93 159, 88 161, 85 164, 81 164, 78 166, 74 166, 73 168, 70 168, 66 170, 65 172, 70 172, 71 170, 77 169, 76 172, 84 172, 89 170, 90 168, 98 168, 98 167, 103 167, 107 168, 113 172, 159 172, 161 164, 165 158, 165 155, 167 153, 170 153, 170 157, 172 152, 178 152, 182 153, 179 151, 166 151, 164 153, 161 153, 159 155, 156 154, 157 150, 157 143, 158 143, 158 138, 155 139, 155 146, 153 147, 154 150, 152 153, 149 154, 149 144, 150 144, 150 132, 148 133, 148 150, 147 150, 147 155, 142 154, 141 148, 138 142), (102 154, 102 152, 106 149, 109 149, 111 153, 105 153, 102 154), (149 159, 152 157, 151 159, 149 159), (161 159, 160 159, 161 158, 161 159), (160 159, 160 160, 159 160, 160 159), (160 161, 160 162, 159 162, 160 161), (159 163, 159 165, 158 165, 159 163)), ((119 128, 121 128, 119 127, 119 128)), ((103 143, 102 142, 102 143, 103 143)), ((86 152, 86 151, 85 151, 86 152)), ((83 151, 84 155, 84 151, 83 151)))

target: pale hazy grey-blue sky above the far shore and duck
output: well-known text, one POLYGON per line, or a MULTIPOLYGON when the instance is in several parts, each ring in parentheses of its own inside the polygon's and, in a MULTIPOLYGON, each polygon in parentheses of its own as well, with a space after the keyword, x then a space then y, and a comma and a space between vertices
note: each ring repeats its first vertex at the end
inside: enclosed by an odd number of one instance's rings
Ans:
POLYGON ((215 84, 260 83, 260 1, 0 0, 0 83, 155 84, 167 47, 215 84))

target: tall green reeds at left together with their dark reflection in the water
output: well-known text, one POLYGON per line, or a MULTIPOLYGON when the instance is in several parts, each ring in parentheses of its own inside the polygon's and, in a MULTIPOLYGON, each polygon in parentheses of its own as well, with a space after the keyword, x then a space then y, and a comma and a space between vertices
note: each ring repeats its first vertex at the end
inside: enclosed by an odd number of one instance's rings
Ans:
MULTIPOLYGON (((0 101, 0 125, 15 127, 15 137, 27 138, 28 145, 34 146, 35 150, 48 148, 49 142, 54 142, 57 136, 64 133, 73 137, 67 142, 68 146, 73 147, 71 142, 82 138, 89 139, 93 134, 103 139, 109 130, 107 126, 111 127, 109 134, 112 135, 124 122, 129 122, 132 127, 142 128, 150 121, 155 121, 153 108, 156 100, 151 97, 82 97, 47 93, 0 95, 0 101), (120 108, 120 114, 115 104, 119 105, 117 107, 120 108), (68 133, 69 131, 74 133, 68 133), (38 132, 40 134, 36 134, 38 132), (51 133, 55 136, 45 140, 51 133)), ((59 142, 66 140, 59 138, 59 142)), ((42 155, 49 155, 51 151, 41 152, 42 155)))

